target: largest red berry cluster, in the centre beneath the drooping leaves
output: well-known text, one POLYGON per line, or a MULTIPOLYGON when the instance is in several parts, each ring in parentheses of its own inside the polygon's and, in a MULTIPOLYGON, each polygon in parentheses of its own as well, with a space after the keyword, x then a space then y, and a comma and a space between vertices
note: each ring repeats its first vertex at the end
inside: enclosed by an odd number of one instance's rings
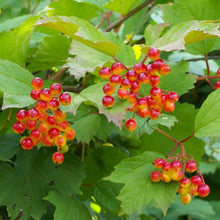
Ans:
MULTIPOLYGON (((112 64, 111 68, 102 68, 99 71, 99 76, 109 80, 103 86, 105 93, 102 99, 103 106, 110 108, 114 105, 112 94, 118 87, 118 97, 127 99, 131 104, 127 110, 136 112, 140 117, 156 120, 160 117, 162 110, 173 112, 179 96, 176 92, 162 91, 158 87, 160 76, 170 72, 170 67, 162 59, 159 59, 159 56, 159 51, 156 48, 151 48, 148 51, 148 57, 152 62, 147 65, 144 62, 137 63, 129 69, 122 63, 116 62, 112 64), (139 90, 143 84, 149 84, 152 88, 149 95, 140 97, 139 90)), ((128 119, 125 123, 126 129, 129 131, 135 130, 136 126, 134 118, 128 119)))

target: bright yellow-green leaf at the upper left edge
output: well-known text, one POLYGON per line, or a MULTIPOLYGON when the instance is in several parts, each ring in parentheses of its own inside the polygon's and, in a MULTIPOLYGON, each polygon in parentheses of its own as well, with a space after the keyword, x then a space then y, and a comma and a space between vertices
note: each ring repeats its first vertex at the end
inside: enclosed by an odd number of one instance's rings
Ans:
POLYGON ((25 65, 33 25, 39 16, 32 16, 12 31, 0 34, 0 58, 25 65))

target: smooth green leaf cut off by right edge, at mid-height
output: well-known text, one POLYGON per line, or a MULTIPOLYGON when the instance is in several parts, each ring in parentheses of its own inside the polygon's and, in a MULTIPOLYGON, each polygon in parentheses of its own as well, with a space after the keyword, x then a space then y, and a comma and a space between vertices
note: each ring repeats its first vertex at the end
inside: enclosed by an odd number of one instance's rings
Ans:
POLYGON ((212 92, 202 104, 195 119, 197 137, 220 135, 220 90, 212 92))

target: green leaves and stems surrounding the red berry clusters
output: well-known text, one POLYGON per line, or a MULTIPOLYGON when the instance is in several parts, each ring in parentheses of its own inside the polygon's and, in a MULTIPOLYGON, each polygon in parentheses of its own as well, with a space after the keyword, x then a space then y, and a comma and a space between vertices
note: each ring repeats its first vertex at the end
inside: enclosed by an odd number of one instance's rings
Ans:
POLYGON ((203 76, 220 66, 219 15, 218 0, 1 0, 0 218, 218 219, 220 90, 203 76), (150 47, 171 66, 160 87, 180 101, 157 121, 137 118, 129 133, 123 127, 129 104, 102 106, 98 71, 114 56, 132 66, 150 47), (52 148, 26 152, 12 130, 16 111, 34 103, 34 76, 46 87, 61 83, 72 96, 62 110, 76 140, 59 166, 52 148), (177 140, 194 132, 184 146, 210 185, 206 199, 184 206, 175 183, 150 181, 152 161, 175 145, 159 130, 177 140))

